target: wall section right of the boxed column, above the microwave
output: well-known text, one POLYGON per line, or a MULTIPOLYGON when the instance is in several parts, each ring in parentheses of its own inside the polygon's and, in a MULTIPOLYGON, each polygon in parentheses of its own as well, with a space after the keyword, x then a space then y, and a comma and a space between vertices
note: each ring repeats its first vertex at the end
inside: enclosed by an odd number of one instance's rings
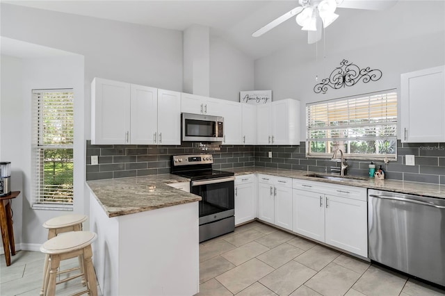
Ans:
POLYGON ((210 40, 210 97, 239 101, 239 92, 254 90, 254 60, 225 40, 210 40))

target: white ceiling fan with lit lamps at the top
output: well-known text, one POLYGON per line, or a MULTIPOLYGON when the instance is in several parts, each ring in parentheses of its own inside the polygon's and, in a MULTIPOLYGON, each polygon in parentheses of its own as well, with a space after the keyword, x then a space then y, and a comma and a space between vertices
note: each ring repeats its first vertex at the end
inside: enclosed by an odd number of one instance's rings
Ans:
POLYGON ((322 28, 326 28, 339 17, 335 12, 339 8, 367 10, 385 10, 394 6, 397 0, 299 0, 300 6, 274 19, 266 26, 255 31, 252 36, 259 37, 282 22, 296 16, 296 22, 307 31, 307 43, 321 40, 322 28))

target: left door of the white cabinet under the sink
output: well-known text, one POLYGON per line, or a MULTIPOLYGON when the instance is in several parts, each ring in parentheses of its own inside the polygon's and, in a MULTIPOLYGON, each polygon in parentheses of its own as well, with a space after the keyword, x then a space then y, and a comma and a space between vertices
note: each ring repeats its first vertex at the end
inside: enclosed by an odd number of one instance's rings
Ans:
POLYGON ((293 189, 293 232, 325 241, 325 197, 317 192, 293 189))

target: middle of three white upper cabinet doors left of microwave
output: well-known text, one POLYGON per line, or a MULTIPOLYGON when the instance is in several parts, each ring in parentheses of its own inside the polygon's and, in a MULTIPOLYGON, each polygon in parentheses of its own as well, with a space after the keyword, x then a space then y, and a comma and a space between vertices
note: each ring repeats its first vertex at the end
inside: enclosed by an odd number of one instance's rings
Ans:
POLYGON ((131 85, 130 143, 156 144, 158 130, 158 89, 131 85))

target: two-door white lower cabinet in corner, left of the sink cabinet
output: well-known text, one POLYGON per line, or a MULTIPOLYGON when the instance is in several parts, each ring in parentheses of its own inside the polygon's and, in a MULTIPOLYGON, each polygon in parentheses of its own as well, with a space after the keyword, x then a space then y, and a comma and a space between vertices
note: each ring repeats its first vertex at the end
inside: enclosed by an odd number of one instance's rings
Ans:
POLYGON ((258 177, 258 219, 292 230, 292 179, 258 177))

